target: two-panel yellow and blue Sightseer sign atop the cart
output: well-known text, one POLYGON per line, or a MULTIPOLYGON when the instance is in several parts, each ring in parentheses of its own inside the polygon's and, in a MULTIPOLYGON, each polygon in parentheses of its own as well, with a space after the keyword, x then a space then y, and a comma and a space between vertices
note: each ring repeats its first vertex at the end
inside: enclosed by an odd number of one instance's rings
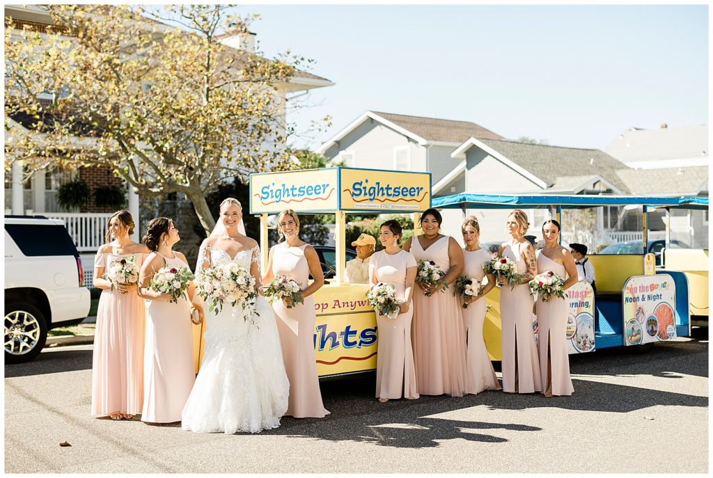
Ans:
POLYGON ((425 172, 334 167, 250 175, 251 214, 283 209, 418 212, 429 207, 431 175, 425 172))

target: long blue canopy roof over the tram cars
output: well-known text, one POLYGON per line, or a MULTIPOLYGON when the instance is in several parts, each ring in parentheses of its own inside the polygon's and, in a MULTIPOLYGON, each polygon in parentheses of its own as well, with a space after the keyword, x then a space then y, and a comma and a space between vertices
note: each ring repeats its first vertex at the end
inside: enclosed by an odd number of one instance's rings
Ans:
POLYGON ((707 209, 707 197, 665 197, 665 196, 615 196, 607 194, 585 195, 520 195, 520 194, 451 194, 434 197, 431 207, 436 209, 503 209, 521 207, 540 209, 562 207, 563 209, 585 209, 597 206, 642 205, 648 207, 671 207, 679 209, 707 209))

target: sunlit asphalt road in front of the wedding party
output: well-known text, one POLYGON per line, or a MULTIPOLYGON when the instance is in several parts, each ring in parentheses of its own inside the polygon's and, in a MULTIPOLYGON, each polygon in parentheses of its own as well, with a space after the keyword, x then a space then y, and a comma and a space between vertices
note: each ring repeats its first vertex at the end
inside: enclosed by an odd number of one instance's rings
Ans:
POLYGON ((94 419, 91 345, 46 349, 5 366, 5 472, 707 473, 707 333, 573 356, 570 398, 381 404, 374 375, 322 383, 332 415, 257 435, 94 419))

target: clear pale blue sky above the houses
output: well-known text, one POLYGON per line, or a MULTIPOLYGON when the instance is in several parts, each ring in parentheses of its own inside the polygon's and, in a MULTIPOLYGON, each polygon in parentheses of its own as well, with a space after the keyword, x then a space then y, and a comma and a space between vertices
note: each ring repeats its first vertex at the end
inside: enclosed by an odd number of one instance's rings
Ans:
POLYGON ((336 85, 298 128, 365 110, 467 120, 508 138, 604 149, 630 126, 708 123, 708 6, 245 5, 267 56, 336 85))

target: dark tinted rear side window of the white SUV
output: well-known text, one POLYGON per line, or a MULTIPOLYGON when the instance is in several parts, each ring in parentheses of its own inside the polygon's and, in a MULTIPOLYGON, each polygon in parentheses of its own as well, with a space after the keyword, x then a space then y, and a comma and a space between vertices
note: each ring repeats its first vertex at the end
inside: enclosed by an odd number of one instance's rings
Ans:
POLYGON ((5 224, 5 230, 26 256, 79 256, 64 226, 5 224))

